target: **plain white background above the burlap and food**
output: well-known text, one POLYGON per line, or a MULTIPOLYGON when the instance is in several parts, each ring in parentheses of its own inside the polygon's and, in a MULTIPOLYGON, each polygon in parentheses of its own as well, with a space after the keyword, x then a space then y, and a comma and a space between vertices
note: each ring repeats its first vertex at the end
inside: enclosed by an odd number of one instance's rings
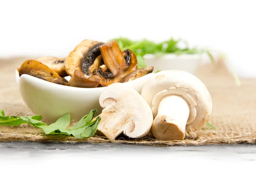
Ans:
POLYGON ((67 56, 83 39, 125 36, 225 53, 239 76, 256 77, 253 1, 1 1, 0 57, 67 56))

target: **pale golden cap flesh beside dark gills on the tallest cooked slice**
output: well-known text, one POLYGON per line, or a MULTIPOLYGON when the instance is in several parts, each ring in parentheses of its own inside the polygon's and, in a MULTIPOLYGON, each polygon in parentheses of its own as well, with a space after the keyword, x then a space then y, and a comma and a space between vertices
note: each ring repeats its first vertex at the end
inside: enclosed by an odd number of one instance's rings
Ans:
POLYGON ((87 53, 90 48, 94 45, 97 45, 102 42, 97 42, 94 40, 83 40, 76 46, 74 50, 72 50, 67 56, 65 61, 65 70, 66 73, 70 76, 73 76, 75 70, 81 70, 82 59, 84 58, 85 53, 87 53))

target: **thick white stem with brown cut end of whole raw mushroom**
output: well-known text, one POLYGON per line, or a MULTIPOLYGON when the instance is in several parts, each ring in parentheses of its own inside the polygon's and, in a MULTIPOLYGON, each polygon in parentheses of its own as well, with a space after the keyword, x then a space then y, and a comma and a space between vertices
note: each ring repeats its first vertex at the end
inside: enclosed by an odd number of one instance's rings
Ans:
POLYGON ((167 95, 160 101, 152 133, 158 140, 183 140, 188 118, 187 102, 180 96, 167 95))

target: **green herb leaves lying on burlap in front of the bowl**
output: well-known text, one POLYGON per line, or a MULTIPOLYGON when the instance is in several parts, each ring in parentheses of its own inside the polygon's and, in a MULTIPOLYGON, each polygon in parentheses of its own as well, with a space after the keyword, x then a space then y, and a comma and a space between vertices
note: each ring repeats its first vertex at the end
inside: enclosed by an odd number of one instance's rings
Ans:
POLYGON ((88 138, 95 134, 101 118, 98 116, 94 121, 93 116, 97 113, 96 109, 90 111, 88 115, 85 115, 79 122, 73 127, 67 129, 70 125, 70 114, 67 113, 59 118, 55 123, 47 125, 41 122, 41 115, 35 116, 5 116, 3 110, 0 110, 0 125, 5 126, 19 126, 20 124, 27 123, 44 131, 46 135, 73 135, 76 138, 88 138))

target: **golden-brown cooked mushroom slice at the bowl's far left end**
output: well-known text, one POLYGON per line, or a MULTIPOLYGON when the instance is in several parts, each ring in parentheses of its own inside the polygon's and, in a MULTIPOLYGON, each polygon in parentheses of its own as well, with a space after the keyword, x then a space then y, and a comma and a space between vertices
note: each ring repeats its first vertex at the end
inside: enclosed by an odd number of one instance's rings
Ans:
POLYGON ((66 82, 58 75, 58 73, 50 69, 47 65, 33 59, 23 62, 18 71, 20 76, 22 74, 28 74, 45 81, 66 85, 66 82))

